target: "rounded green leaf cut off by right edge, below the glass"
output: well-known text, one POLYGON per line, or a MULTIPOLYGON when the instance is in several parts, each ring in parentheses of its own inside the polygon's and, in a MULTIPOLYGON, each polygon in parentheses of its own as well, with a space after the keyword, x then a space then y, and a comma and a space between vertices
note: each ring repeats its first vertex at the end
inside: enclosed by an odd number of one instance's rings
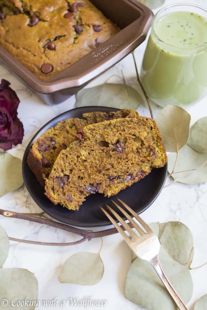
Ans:
POLYGON ((207 153, 207 116, 191 127, 188 144, 197 152, 207 153))

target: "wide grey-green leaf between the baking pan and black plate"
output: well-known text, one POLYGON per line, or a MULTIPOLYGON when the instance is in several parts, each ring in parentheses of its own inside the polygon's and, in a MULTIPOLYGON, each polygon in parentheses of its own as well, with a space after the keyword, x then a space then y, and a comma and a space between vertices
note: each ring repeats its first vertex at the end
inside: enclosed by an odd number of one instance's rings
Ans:
POLYGON ((126 84, 104 83, 92 88, 84 88, 76 95, 76 106, 98 105, 136 110, 143 102, 142 96, 126 84))

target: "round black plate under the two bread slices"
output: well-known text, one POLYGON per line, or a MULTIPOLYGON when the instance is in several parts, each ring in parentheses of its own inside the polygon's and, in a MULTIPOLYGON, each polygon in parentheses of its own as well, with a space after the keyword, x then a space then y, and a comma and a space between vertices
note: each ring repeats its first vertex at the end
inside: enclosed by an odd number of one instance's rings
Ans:
MULTIPOLYGON (((109 112, 117 110, 118 109, 116 108, 94 106, 72 109, 53 118, 50 122, 43 126, 29 142, 22 162, 23 178, 25 185, 34 201, 48 215, 66 224, 79 227, 98 227, 110 225, 109 220, 100 210, 99 206, 105 206, 105 204, 112 205, 110 201, 111 197, 107 198, 102 194, 92 194, 86 198, 86 201, 84 201, 80 206, 79 211, 68 210, 60 205, 54 206, 52 202, 44 195, 44 188, 36 180, 34 174, 27 166, 26 160, 29 149, 32 147, 34 141, 50 127, 55 126, 58 122, 71 117, 82 118, 82 114, 86 112, 109 112)), ((139 214, 146 210, 158 197, 164 185, 166 174, 167 164, 163 168, 153 169, 151 173, 144 179, 133 184, 131 187, 124 189, 116 196, 126 202, 134 211, 139 214)), ((113 197, 113 199, 115 199, 115 197, 113 197)))

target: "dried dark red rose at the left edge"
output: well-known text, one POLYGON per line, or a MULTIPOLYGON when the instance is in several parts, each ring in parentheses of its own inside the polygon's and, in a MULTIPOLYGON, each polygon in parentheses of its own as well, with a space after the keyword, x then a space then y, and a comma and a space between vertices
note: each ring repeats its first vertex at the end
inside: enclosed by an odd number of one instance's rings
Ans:
POLYGON ((24 128, 17 117, 20 103, 16 92, 9 87, 10 83, 2 79, 0 84, 0 148, 4 151, 13 145, 22 143, 24 128))

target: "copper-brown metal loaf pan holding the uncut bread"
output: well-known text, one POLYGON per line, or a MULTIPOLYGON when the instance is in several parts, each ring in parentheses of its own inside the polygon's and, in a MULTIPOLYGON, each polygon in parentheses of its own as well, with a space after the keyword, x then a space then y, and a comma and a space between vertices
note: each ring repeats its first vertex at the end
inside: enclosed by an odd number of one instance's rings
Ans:
POLYGON ((76 94, 93 78, 141 44, 150 28, 152 11, 137 0, 91 0, 121 31, 56 77, 42 81, 0 47, 0 58, 47 104, 58 104, 76 94))

